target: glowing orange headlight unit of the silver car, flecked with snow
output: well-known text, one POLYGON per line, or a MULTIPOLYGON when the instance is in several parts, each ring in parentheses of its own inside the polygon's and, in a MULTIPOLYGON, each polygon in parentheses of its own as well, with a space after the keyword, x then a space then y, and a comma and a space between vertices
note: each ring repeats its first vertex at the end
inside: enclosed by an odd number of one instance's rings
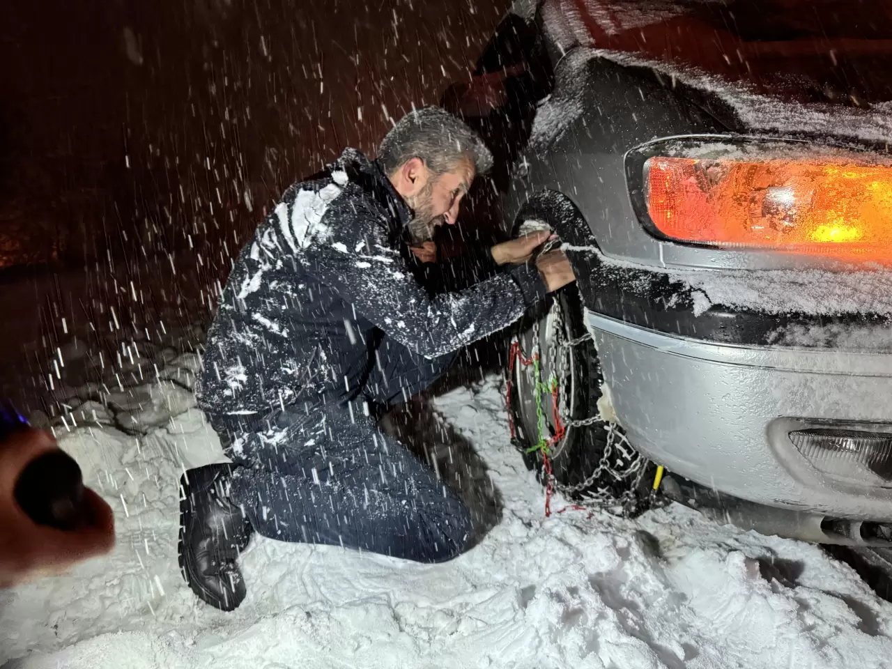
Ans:
POLYGON ((892 260, 892 164, 879 154, 785 142, 664 146, 640 165, 655 234, 682 243, 892 260))

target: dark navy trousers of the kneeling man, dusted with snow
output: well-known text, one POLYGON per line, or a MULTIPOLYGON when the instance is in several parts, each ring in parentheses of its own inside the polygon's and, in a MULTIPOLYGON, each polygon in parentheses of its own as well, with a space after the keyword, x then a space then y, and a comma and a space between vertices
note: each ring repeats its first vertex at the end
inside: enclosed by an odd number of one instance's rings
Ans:
POLYGON ((238 465, 230 494, 271 539, 340 545, 438 562, 471 538, 465 505, 401 443, 377 429, 374 405, 424 390, 452 355, 424 359, 384 337, 352 401, 311 401, 260 421, 211 417, 238 465))

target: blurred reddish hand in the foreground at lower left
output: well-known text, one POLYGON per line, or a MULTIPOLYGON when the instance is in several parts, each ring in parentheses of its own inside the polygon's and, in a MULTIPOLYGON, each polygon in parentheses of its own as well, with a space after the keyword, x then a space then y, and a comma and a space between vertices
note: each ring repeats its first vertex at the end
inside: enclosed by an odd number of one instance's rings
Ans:
POLYGON ((57 448, 54 438, 42 430, 13 434, 0 443, 0 588, 39 575, 59 574, 114 546, 111 507, 88 488, 84 503, 90 524, 70 532, 35 524, 15 500, 13 491, 22 470, 57 448))

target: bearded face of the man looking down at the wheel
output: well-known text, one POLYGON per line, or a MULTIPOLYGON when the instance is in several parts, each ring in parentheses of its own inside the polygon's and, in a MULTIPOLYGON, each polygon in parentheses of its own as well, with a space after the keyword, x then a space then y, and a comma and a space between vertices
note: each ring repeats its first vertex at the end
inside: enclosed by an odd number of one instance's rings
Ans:
POLYGON ((435 177, 423 165, 423 186, 417 194, 407 197, 415 218, 409 222, 409 232, 416 243, 430 241, 434 230, 443 223, 454 225, 458 219, 461 200, 474 181, 475 169, 471 161, 459 161, 454 169, 435 177))

